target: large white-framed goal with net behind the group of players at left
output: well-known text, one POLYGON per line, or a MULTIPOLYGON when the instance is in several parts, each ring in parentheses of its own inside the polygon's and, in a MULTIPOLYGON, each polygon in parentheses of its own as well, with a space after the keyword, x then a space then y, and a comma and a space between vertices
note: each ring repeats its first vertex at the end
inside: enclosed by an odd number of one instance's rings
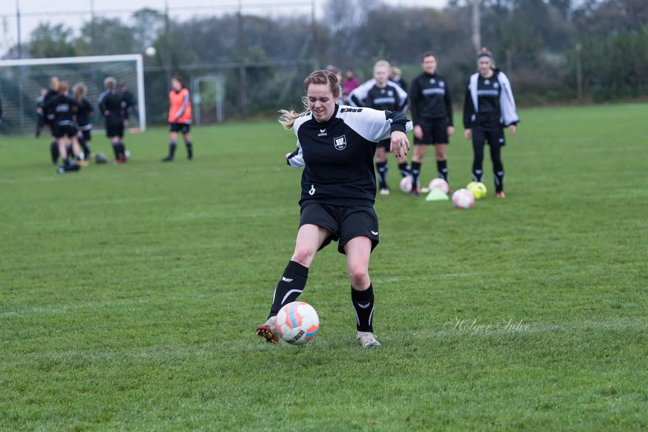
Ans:
POLYGON ((0 132, 34 132, 37 121, 36 99, 40 96, 41 89, 47 89, 52 76, 67 81, 70 95, 76 83, 86 84, 86 96, 95 109, 95 115, 91 119, 95 130, 104 128, 104 117, 97 109, 97 100, 104 91, 104 78, 114 76, 117 83, 126 83, 137 106, 137 109, 133 106, 130 110, 128 127, 146 130, 142 55, 124 54, 0 60, 0 98, 3 107, 0 132))

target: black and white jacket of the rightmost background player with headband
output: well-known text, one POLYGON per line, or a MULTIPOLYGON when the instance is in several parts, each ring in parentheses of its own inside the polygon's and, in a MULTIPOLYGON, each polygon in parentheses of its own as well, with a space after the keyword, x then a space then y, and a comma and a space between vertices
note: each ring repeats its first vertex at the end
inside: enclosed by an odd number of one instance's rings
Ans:
POLYGON ((496 69, 490 78, 480 73, 470 76, 463 104, 463 126, 497 130, 518 124, 520 118, 507 76, 496 69))

